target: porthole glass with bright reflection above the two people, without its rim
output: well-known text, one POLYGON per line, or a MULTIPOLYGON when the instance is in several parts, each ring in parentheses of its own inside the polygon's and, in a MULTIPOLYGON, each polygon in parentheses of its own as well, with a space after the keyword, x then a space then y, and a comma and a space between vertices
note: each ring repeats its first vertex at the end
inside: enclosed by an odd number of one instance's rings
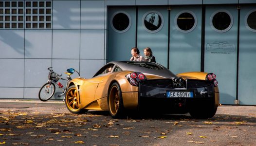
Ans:
POLYGON ((148 30, 155 31, 160 28, 162 18, 157 13, 150 13, 144 19, 144 24, 148 30))

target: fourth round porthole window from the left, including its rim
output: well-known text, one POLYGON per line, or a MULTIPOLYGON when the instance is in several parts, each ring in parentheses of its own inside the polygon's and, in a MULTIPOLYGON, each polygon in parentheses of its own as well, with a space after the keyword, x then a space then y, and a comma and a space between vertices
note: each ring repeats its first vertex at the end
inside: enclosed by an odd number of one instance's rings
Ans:
POLYGON ((228 11, 219 10, 212 14, 210 24, 215 31, 224 33, 232 27, 233 17, 228 11))

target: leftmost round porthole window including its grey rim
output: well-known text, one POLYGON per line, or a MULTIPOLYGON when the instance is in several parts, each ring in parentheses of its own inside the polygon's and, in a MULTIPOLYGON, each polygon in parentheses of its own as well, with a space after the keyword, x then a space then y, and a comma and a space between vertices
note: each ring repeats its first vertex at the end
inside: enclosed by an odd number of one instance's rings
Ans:
POLYGON ((126 12, 116 12, 111 17, 111 27, 115 32, 124 33, 131 26, 131 18, 126 12))

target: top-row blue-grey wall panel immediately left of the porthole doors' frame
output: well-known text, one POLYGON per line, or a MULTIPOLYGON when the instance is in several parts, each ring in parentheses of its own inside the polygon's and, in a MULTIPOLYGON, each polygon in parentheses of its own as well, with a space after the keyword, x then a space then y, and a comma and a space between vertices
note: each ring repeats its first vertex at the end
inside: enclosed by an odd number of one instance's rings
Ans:
POLYGON ((81 1, 81 29, 103 30, 105 24, 105 1, 81 1))

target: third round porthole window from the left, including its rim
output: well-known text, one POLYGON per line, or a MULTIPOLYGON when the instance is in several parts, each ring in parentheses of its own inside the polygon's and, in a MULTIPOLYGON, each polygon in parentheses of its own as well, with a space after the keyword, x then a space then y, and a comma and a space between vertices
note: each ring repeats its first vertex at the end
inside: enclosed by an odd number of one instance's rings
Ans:
POLYGON ((192 11, 181 11, 175 17, 176 28, 183 33, 193 31, 197 26, 197 17, 192 11))

